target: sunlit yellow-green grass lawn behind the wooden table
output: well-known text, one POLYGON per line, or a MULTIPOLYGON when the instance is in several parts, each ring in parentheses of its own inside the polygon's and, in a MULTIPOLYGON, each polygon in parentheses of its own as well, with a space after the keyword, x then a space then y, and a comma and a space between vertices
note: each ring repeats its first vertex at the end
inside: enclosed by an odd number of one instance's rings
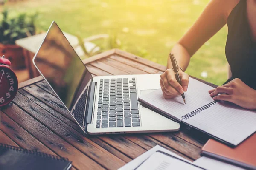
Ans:
MULTIPOLYGON (((38 26, 55 20, 63 31, 89 37, 117 34, 122 49, 166 65, 172 46, 189 29, 209 0, 25 0, 7 4, 13 11, 40 13, 38 26)), ((192 57, 187 73, 221 85, 227 79, 224 53, 227 27, 192 57), (202 72, 208 77, 201 77, 202 72)))

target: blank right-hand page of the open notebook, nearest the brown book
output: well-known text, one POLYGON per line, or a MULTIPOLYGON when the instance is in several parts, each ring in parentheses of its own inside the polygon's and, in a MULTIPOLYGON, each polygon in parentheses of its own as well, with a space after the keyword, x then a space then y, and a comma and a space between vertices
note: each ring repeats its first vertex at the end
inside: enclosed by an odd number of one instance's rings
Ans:
POLYGON ((256 131, 256 111, 218 102, 183 122, 237 145, 256 131))

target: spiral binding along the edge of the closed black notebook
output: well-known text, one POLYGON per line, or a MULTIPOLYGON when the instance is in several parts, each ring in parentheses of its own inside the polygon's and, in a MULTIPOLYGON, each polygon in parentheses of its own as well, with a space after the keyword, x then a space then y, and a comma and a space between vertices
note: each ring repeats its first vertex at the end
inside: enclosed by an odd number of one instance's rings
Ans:
POLYGON ((63 157, 58 157, 55 155, 50 155, 47 153, 42 153, 42 152, 38 152, 38 151, 34 151, 34 150, 28 150, 28 149, 22 149, 20 147, 15 147, 15 146, 11 146, 8 144, 1 144, 0 143, 0 150, 4 150, 4 149, 11 149, 11 150, 15 150, 17 152, 22 152, 22 153, 27 153, 29 155, 35 155, 35 156, 40 156, 40 157, 45 157, 45 158, 49 158, 49 159, 53 159, 56 161, 68 161, 67 158, 63 158, 63 157))

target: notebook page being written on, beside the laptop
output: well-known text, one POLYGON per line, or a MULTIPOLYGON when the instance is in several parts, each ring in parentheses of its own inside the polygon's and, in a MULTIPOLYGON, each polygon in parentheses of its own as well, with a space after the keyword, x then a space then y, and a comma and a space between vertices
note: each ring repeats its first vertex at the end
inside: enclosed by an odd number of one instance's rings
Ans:
POLYGON ((185 93, 186 104, 184 104, 181 96, 177 96, 174 99, 165 99, 161 89, 140 96, 139 99, 147 105, 181 121, 182 116, 213 101, 208 93, 210 89, 212 89, 211 86, 189 77, 189 86, 185 93))

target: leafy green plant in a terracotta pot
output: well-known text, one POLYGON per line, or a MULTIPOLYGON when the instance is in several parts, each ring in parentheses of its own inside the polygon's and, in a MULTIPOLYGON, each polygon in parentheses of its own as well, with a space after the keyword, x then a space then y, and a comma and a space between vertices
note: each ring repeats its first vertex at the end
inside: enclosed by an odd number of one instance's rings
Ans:
POLYGON ((0 55, 5 55, 12 62, 12 68, 14 69, 25 67, 23 49, 15 45, 15 41, 35 35, 37 16, 37 13, 33 15, 20 13, 16 17, 9 17, 8 10, 2 12, 2 20, 0 20, 0 55))

